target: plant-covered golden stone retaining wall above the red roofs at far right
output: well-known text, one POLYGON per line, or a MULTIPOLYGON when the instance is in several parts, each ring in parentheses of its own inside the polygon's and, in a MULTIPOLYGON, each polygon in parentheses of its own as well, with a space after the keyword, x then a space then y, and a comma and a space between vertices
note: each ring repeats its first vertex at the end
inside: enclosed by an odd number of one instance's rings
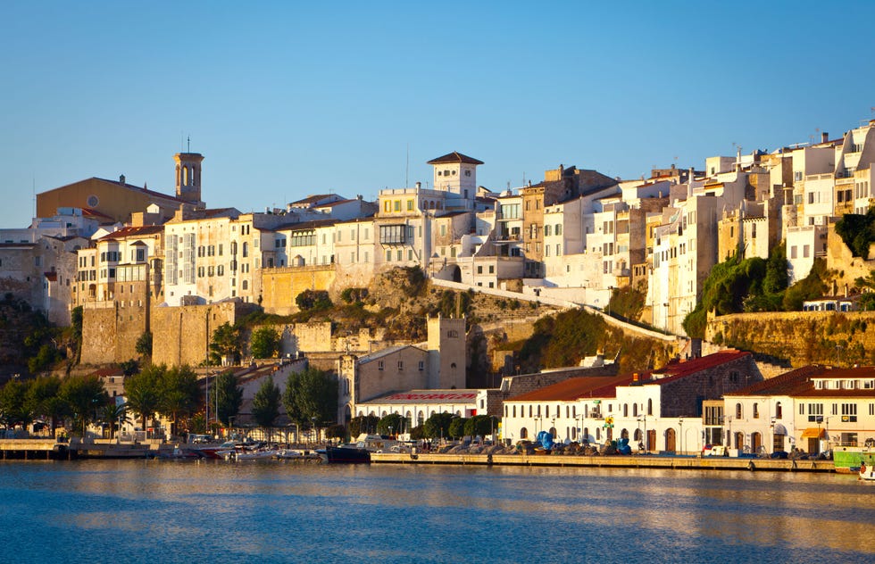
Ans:
POLYGON ((875 311, 738 313, 709 318, 705 339, 789 361, 875 364, 875 311))

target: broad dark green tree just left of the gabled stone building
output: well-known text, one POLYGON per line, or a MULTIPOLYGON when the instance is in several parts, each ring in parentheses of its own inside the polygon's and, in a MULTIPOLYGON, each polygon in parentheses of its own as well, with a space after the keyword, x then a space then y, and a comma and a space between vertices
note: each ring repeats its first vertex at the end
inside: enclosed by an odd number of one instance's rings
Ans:
POLYGON ((298 425, 334 422, 337 419, 337 377, 309 367, 289 374, 283 394, 288 418, 298 425))

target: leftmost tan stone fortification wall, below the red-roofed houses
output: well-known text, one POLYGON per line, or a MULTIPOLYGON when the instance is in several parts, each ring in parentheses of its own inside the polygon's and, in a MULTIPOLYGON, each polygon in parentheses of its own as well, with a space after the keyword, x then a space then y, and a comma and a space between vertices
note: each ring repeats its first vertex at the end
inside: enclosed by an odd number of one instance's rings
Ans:
POLYGON ((137 339, 148 328, 148 309, 119 308, 116 303, 87 303, 82 310, 84 364, 106 364, 137 358, 137 339))

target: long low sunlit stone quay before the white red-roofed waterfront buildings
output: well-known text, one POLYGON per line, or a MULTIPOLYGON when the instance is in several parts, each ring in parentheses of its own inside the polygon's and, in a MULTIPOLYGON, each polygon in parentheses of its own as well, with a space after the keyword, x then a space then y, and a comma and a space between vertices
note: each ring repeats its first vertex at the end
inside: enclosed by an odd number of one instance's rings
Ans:
POLYGON ((781 460, 722 456, 552 456, 526 454, 371 453, 374 464, 456 464, 560 468, 748 470, 771 472, 835 472, 832 460, 781 460))

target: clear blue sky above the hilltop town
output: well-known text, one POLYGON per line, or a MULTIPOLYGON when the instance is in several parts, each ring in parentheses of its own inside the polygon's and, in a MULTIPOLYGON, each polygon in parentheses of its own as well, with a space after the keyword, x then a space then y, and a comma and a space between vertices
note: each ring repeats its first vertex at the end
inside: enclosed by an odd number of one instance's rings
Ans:
POLYGON ((875 117, 875 3, 314 4, 0 5, 0 227, 93 176, 171 193, 186 137, 206 202, 258 211, 425 183, 451 151, 504 189, 875 117))

